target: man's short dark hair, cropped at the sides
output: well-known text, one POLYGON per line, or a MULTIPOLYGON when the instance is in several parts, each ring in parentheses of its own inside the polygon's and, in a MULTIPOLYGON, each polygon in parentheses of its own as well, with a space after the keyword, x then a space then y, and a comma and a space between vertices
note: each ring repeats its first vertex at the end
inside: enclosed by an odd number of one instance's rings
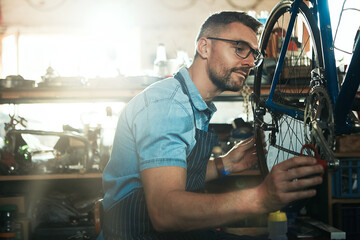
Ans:
MULTIPOLYGON (((223 11, 211 15, 201 26, 196 42, 203 36, 215 36, 221 32, 226 25, 239 22, 251 28, 256 34, 259 34, 262 23, 245 12, 240 11, 223 11)), ((197 52, 195 54, 195 57, 197 52)))

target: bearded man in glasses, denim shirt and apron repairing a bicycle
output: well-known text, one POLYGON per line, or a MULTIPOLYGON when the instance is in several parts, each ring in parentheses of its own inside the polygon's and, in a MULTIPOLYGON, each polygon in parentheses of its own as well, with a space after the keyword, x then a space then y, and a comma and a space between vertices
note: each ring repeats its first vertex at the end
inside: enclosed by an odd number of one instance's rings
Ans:
POLYGON ((217 142, 208 124, 216 111, 212 99, 240 90, 261 61, 260 26, 243 12, 210 16, 192 65, 148 87, 125 107, 103 173, 105 239, 229 239, 211 229, 316 194, 310 187, 322 182, 323 168, 307 157, 275 166, 257 187, 201 193, 205 181, 257 161, 253 138, 208 161, 217 142))

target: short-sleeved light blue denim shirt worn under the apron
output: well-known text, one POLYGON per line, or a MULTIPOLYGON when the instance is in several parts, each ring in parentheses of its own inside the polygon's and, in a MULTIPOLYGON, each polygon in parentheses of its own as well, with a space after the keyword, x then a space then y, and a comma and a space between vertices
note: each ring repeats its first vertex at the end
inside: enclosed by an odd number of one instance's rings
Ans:
MULTIPOLYGON (((194 104, 196 127, 207 131, 216 107, 204 102, 185 67, 179 72, 194 104)), ((105 210, 142 187, 142 170, 186 168, 195 143, 193 110, 179 81, 167 78, 147 87, 129 101, 119 117, 110 160, 103 171, 105 210)))

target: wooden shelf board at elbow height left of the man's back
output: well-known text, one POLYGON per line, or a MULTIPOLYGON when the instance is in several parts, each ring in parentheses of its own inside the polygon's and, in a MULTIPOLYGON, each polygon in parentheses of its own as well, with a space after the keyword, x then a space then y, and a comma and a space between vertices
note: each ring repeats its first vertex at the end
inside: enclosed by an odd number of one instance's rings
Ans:
POLYGON ((0 176, 0 182, 1 181, 23 181, 23 180, 56 180, 56 179, 101 179, 101 177, 102 177, 102 173, 6 175, 6 176, 0 176))

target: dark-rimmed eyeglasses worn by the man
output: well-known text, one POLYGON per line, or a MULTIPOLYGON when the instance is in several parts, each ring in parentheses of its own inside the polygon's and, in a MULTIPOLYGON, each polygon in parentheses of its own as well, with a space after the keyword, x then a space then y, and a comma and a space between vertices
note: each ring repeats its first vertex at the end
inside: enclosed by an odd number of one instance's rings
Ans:
POLYGON ((236 55, 242 59, 245 59, 245 58, 249 57, 249 55, 251 53, 254 57, 255 67, 258 67, 264 59, 264 56, 261 54, 260 51, 253 49, 245 41, 241 41, 241 40, 236 41, 236 40, 230 40, 230 39, 224 39, 224 38, 214 38, 214 37, 207 37, 207 39, 235 43, 236 44, 236 48, 235 48, 236 55))

